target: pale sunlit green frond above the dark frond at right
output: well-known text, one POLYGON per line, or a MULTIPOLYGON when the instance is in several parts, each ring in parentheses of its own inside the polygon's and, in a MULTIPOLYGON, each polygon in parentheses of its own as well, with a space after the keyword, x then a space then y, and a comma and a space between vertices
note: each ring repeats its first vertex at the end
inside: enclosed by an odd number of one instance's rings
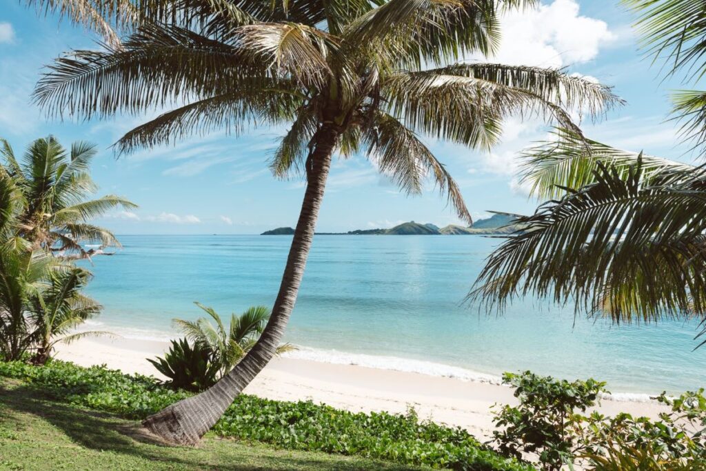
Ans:
MULTIPOLYGON (((595 182, 599 162, 627 177, 640 154, 618 150, 579 136, 569 129, 555 129, 554 139, 522 152, 520 181, 530 184, 530 193, 539 199, 558 198, 566 188, 580 189, 595 182)), ((642 155, 642 182, 649 184, 666 170, 687 172, 691 165, 652 155, 642 155)))

